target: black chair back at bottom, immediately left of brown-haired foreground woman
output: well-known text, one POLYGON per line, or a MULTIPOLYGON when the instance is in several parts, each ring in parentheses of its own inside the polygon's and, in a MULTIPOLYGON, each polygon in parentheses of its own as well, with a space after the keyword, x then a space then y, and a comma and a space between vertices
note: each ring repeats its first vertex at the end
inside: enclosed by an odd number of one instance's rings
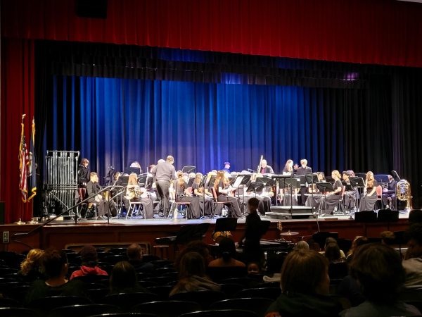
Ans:
POLYGON ((273 302, 273 299, 260 297, 233 298, 215 302, 211 304, 210 309, 245 309, 246 311, 253 311, 257 316, 263 317, 269 305, 273 302))

